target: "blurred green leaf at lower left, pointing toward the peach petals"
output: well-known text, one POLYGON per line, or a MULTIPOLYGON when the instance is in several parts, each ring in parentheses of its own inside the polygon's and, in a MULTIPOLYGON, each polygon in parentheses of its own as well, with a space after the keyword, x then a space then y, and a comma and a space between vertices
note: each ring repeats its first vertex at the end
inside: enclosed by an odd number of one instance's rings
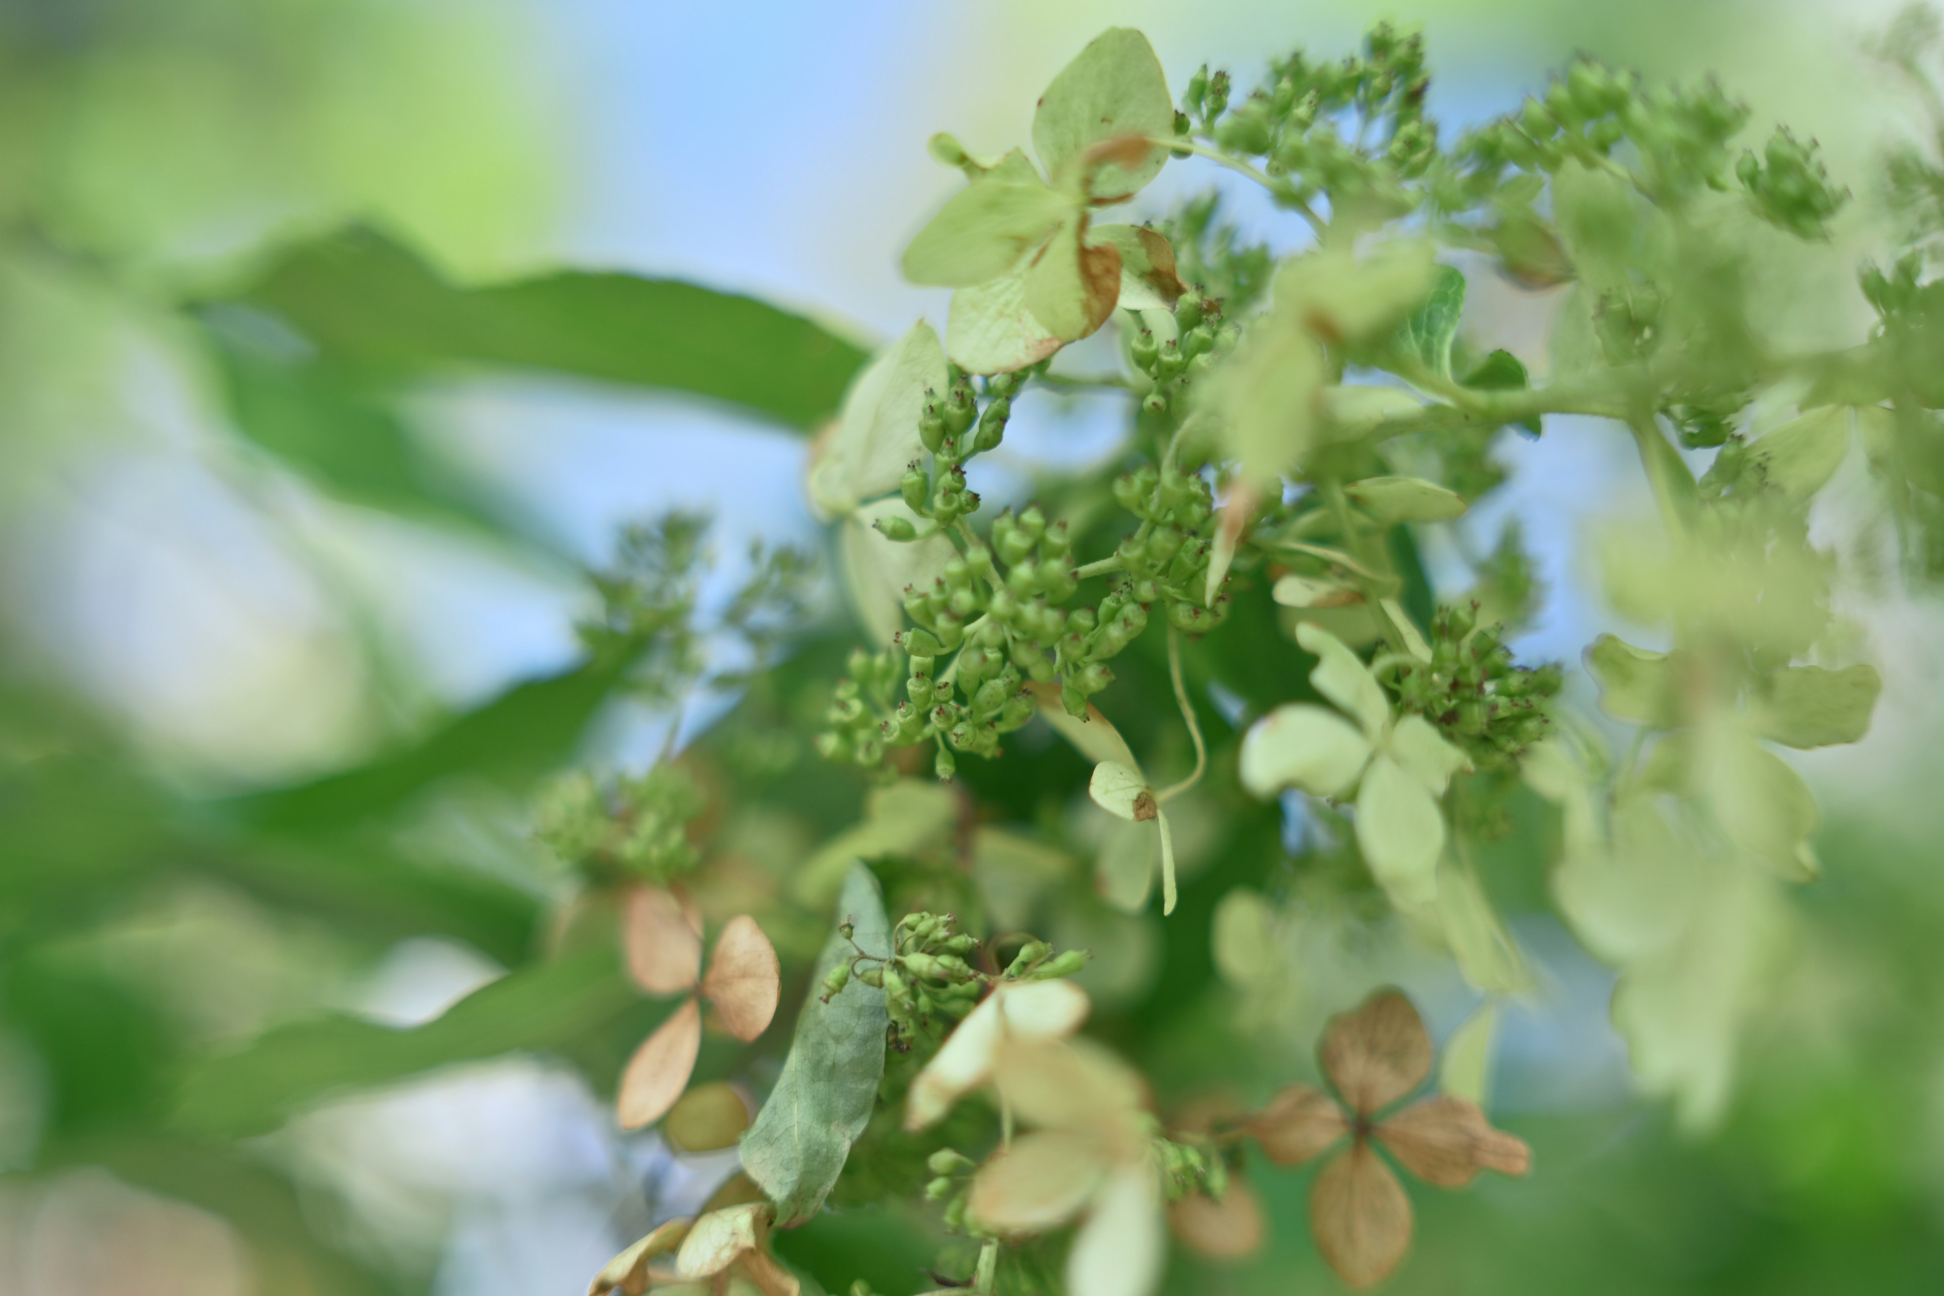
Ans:
POLYGON ((350 1016, 280 1026, 239 1053, 192 1065, 175 1119, 198 1133, 260 1135, 327 1096, 451 1063, 562 1047, 640 1006, 618 950, 591 948, 511 972, 410 1030, 350 1016))

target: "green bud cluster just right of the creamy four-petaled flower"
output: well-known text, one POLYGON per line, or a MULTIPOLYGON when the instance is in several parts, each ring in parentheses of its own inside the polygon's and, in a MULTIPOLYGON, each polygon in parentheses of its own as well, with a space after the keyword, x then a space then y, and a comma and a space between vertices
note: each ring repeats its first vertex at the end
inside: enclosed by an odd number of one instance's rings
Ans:
POLYGON ((1439 608, 1431 663, 1398 670, 1398 701, 1417 711, 1472 758, 1479 771, 1512 769, 1545 736, 1545 703, 1559 692, 1557 665, 1514 666, 1501 628, 1477 624, 1477 604, 1439 608))

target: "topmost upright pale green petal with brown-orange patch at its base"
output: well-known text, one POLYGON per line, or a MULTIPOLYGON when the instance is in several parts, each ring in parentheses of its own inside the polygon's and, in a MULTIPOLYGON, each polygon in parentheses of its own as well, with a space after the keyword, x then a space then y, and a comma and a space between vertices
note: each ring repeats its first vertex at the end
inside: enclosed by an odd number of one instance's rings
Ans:
POLYGON ((1032 148, 1054 183, 1085 185, 1096 202, 1120 202, 1168 161, 1166 150, 1139 146, 1126 155, 1112 150, 1112 159, 1089 159, 1096 144, 1128 136, 1172 138, 1174 99, 1147 37, 1108 27, 1040 95, 1032 148))

